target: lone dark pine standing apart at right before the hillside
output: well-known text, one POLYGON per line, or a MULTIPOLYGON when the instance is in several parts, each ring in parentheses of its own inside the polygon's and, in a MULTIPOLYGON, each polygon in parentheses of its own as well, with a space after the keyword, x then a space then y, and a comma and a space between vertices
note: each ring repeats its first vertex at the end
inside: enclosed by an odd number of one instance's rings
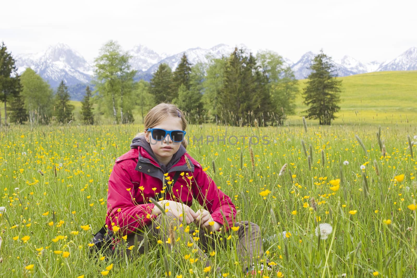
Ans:
POLYGON ((314 57, 310 69, 312 72, 308 76, 303 92, 304 103, 309 109, 304 112, 309 119, 318 118, 320 125, 330 125, 336 118, 334 113, 340 110, 338 103, 342 81, 336 79, 332 60, 323 53, 323 50, 314 57))

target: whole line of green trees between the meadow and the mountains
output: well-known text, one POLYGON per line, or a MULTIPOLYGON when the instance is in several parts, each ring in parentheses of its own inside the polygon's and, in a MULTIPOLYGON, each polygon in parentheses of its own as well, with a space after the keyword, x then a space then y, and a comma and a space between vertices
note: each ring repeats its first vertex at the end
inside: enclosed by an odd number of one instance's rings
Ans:
MULTIPOLYGON (((49 84, 30 68, 17 74, 15 60, 4 43, 0 51, 0 100, 5 105, 5 123, 68 123, 74 119, 74 106, 64 81, 54 93, 49 84)), ((161 102, 175 103, 191 123, 226 125, 283 125, 295 110, 298 80, 283 58, 272 51, 256 55, 244 49, 209 63, 188 61, 185 53, 175 70, 160 64, 150 82, 134 77, 131 56, 115 41, 100 49, 94 65, 94 90, 86 88, 81 102, 81 121, 94 124, 95 118, 113 123, 143 120, 146 112, 161 102), (93 111, 93 106, 95 111, 93 111)), ((340 82, 334 66, 323 52, 311 65, 312 73, 304 88, 306 116, 330 124, 340 108, 340 82), (320 83, 318 80, 322 80, 320 83)), ((0 117, 1 119, 1 117, 0 117)))

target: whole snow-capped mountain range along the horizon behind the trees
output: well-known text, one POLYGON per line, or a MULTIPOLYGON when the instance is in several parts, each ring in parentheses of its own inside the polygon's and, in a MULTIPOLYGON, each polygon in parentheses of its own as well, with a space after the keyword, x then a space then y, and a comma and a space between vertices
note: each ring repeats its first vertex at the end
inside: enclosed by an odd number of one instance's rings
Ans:
MULTIPOLYGON (((256 53, 243 44, 236 46, 246 49, 247 52, 256 53)), ((131 67, 138 70, 135 79, 148 81, 161 63, 166 63, 175 70, 183 53, 187 55, 188 61, 192 64, 208 63, 210 58, 229 56, 234 48, 235 46, 220 44, 209 49, 190 48, 174 55, 167 55, 166 53, 157 53, 144 45, 136 45, 128 50, 128 54, 132 57, 131 67)), ((284 58, 284 62, 291 67, 297 79, 304 79, 310 73, 309 66, 315 55, 313 52, 307 52, 296 63, 286 58, 284 58)), ((60 81, 63 80, 68 85, 73 100, 80 100, 83 97, 85 86, 93 78, 93 62, 86 61, 80 53, 63 43, 50 46, 44 52, 18 54, 14 55, 14 58, 19 74, 30 67, 47 80, 53 88, 58 87, 60 81)), ((417 70, 417 47, 409 48, 392 61, 362 63, 346 55, 340 60, 333 60, 333 62, 338 76, 374 71, 417 70)))

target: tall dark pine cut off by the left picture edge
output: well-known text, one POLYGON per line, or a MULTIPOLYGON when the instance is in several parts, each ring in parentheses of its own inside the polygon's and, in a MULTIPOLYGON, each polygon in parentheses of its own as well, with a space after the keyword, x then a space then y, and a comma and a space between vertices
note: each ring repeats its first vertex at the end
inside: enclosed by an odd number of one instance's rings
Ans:
POLYGON ((0 47, 0 101, 4 102, 5 124, 7 123, 7 101, 17 96, 20 90, 20 79, 17 74, 15 60, 11 53, 7 52, 7 47, 3 42, 0 47))

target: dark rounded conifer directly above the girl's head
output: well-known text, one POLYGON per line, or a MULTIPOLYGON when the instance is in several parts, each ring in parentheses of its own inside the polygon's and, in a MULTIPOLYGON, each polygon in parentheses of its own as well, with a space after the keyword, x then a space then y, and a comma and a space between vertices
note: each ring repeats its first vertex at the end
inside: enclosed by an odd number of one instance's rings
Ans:
POLYGON ((172 71, 167 64, 160 64, 158 70, 151 79, 149 92, 155 99, 156 104, 171 102, 174 99, 172 93, 172 71))

